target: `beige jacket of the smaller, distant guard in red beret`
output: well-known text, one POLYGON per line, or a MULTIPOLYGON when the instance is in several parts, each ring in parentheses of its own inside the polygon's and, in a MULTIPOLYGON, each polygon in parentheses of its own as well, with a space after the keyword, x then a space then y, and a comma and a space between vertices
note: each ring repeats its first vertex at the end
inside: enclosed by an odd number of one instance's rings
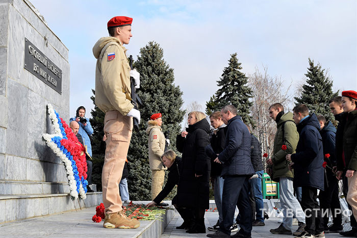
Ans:
POLYGON ((150 120, 147 123, 146 134, 149 138, 149 165, 150 170, 166 170, 164 168, 161 156, 165 150, 165 136, 156 121, 150 120))

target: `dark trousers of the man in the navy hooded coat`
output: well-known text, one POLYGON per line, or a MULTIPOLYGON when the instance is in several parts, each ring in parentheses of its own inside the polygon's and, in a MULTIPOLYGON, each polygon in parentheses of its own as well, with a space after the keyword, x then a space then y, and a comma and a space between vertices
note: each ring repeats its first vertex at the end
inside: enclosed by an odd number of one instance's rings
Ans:
POLYGON ((305 231, 312 235, 319 234, 324 227, 320 206, 317 202, 317 188, 304 186, 301 187, 301 192, 301 208, 305 211, 306 216, 305 231))

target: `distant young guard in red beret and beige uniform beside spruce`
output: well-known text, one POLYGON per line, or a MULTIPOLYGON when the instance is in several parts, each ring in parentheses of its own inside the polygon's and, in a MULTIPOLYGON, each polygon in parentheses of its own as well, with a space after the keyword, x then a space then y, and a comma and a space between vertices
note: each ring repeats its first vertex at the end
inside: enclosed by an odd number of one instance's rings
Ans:
MULTIPOLYGON (((161 159, 161 156, 165 152, 165 135, 162 132, 161 126, 161 113, 152 114, 150 120, 147 122, 146 128, 149 144, 149 165, 151 170, 151 200, 154 200, 162 191, 165 170, 167 170, 161 159)), ((159 205, 168 206, 167 203, 162 202, 159 205)))

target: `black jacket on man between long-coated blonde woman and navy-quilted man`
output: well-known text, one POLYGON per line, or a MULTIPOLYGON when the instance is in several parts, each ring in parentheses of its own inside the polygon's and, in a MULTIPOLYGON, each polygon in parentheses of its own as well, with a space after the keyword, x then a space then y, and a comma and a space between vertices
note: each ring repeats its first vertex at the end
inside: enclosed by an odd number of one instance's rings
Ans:
POLYGON ((222 173, 222 164, 214 162, 217 158, 217 154, 221 153, 224 150, 225 145, 225 127, 221 127, 217 129, 216 134, 212 135, 211 138, 211 147, 216 154, 211 158, 211 177, 220 176, 222 173))

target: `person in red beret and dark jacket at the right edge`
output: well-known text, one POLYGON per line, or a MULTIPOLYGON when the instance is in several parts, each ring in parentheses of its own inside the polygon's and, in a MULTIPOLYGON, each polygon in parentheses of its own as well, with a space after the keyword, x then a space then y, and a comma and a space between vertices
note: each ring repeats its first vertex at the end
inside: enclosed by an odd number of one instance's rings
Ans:
MULTIPOLYGON (((347 202, 352 207, 353 216, 357 219, 357 92, 353 90, 342 92, 342 107, 344 111, 342 124, 342 148, 339 148, 337 161, 337 176, 342 178, 346 171, 348 179, 347 202)), ((353 230, 353 229, 352 229, 353 230)), ((341 232, 343 233, 343 232, 341 232)), ((342 235, 345 235, 344 233, 342 235)), ((352 234, 350 234, 352 235, 352 234)), ((354 236, 357 232, 354 230, 354 236)))

